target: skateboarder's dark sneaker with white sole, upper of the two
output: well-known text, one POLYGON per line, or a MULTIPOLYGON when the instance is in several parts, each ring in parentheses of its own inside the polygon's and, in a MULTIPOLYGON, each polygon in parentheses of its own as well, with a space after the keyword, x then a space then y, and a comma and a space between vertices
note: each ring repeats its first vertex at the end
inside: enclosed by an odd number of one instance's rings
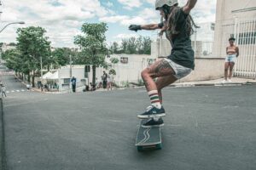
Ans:
POLYGON ((166 111, 162 105, 160 109, 154 107, 154 105, 149 105, 147 107, 147 111, 145 111, 143 114, 138 115, 137 117, 140 119, 148 119, 152 117, 161 117, 161 116, 166 116, 166 111))

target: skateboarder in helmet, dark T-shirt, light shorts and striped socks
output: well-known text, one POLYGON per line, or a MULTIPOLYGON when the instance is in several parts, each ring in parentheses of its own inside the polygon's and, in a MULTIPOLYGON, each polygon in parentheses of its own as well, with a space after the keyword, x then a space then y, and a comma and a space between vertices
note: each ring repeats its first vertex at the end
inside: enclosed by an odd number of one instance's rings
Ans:
POLYGON ((189 75, 194 70, 194 51, 191 47, 190 35, 193 34, 195 23, 189 12, 195 7, 197 0, 188 0, 184 7, 177 6, 177 0, 156 0, 155 9, 160 10, 164 21, 160 24, 131 25, 131 31, 160 29, 160 36, 166 33, 166 38, 171 42, 172 51, 166 59, 159 59, 144 69, 141 73, 151 105, 138 118, 148 119, 143 127, 161 126, 163 120, 159 117, 166 116, 162 104, 161 89, 172 82, 189 75), (154 78, 157 78, 154 82, 154 78), (158 117, 158 118, 156 118, 158 117))

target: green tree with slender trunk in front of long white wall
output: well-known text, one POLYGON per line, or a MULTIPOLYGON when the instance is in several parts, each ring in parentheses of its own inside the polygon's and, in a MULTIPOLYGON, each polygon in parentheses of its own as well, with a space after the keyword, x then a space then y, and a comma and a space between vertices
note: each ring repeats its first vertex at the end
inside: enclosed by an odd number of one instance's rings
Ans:
POLYGON ((107 54, 106 36, 108 31, 106 23, 84 23, 81 28, 84 35, 75 37, 74 43, 79 45, 79 62, 92 65, 92 84, 96 84, 96 67, 106 67, 105 55, 107 54))

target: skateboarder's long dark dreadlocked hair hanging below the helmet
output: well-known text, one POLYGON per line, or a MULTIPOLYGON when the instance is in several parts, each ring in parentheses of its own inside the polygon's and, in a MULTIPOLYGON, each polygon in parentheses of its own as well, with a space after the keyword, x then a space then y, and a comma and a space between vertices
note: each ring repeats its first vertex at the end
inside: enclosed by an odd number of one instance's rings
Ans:
MULTIPOLYGON (((167 31, 170 31, 171 35, 175 36, 179 33, 179 31, 176 30, 177 27, 177 10, 179 10, 180 7, 177 6, 172 6, 170 7, 170 14, 168 15, 167 18, 167 31)), ((193 28, 200 28, 200 26, 196 26, 194 20, 192 19, 191 15, 189 14, 188 17, 186 18, 186 23, 185 23, 185 31, 186 34, 191 36, 195 31, 193 28)))

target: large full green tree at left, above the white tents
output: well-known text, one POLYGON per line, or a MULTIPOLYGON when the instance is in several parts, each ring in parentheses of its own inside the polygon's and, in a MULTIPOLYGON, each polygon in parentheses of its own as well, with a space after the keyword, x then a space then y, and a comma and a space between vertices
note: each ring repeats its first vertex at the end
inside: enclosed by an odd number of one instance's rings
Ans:
POLYGON ((34 77, 36 71, 40 70, 40 60, 42 58, 43 65, 50 65, 50 42, 45 37, 46 31, 42 27, 29 26, 19 28, 17 30, 17 49, 20 51, 22 59, 21 71, 28 76, 32 72, 32 87, 34 87, 34 77))

